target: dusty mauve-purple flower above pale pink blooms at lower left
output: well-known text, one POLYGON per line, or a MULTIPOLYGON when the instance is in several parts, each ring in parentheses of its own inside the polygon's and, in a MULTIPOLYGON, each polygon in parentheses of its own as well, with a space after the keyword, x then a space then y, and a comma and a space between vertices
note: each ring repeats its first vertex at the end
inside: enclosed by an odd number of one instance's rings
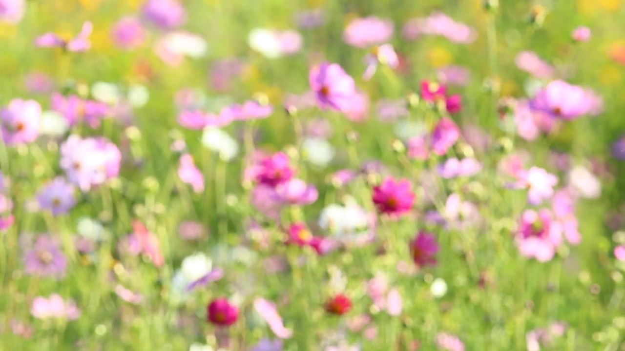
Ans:
MULTIPOLYGON (((26 234, 22 234, 26 235, 26 234)), ((26 274, 61 279, 65 276, 68 260, 50 235, 37 238, 24 253, 26 274)))

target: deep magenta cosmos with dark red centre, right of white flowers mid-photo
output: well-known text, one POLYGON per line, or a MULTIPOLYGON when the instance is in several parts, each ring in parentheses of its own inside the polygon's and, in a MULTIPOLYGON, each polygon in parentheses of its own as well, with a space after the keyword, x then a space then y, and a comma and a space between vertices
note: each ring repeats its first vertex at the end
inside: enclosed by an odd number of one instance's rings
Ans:
POLYGON ((407 179, 395 180, 387 177, 382 184, 373 188, 373 203, 383 214, 392 216, 407 214, 414 205, 414 199, 412 184, 407 179))

